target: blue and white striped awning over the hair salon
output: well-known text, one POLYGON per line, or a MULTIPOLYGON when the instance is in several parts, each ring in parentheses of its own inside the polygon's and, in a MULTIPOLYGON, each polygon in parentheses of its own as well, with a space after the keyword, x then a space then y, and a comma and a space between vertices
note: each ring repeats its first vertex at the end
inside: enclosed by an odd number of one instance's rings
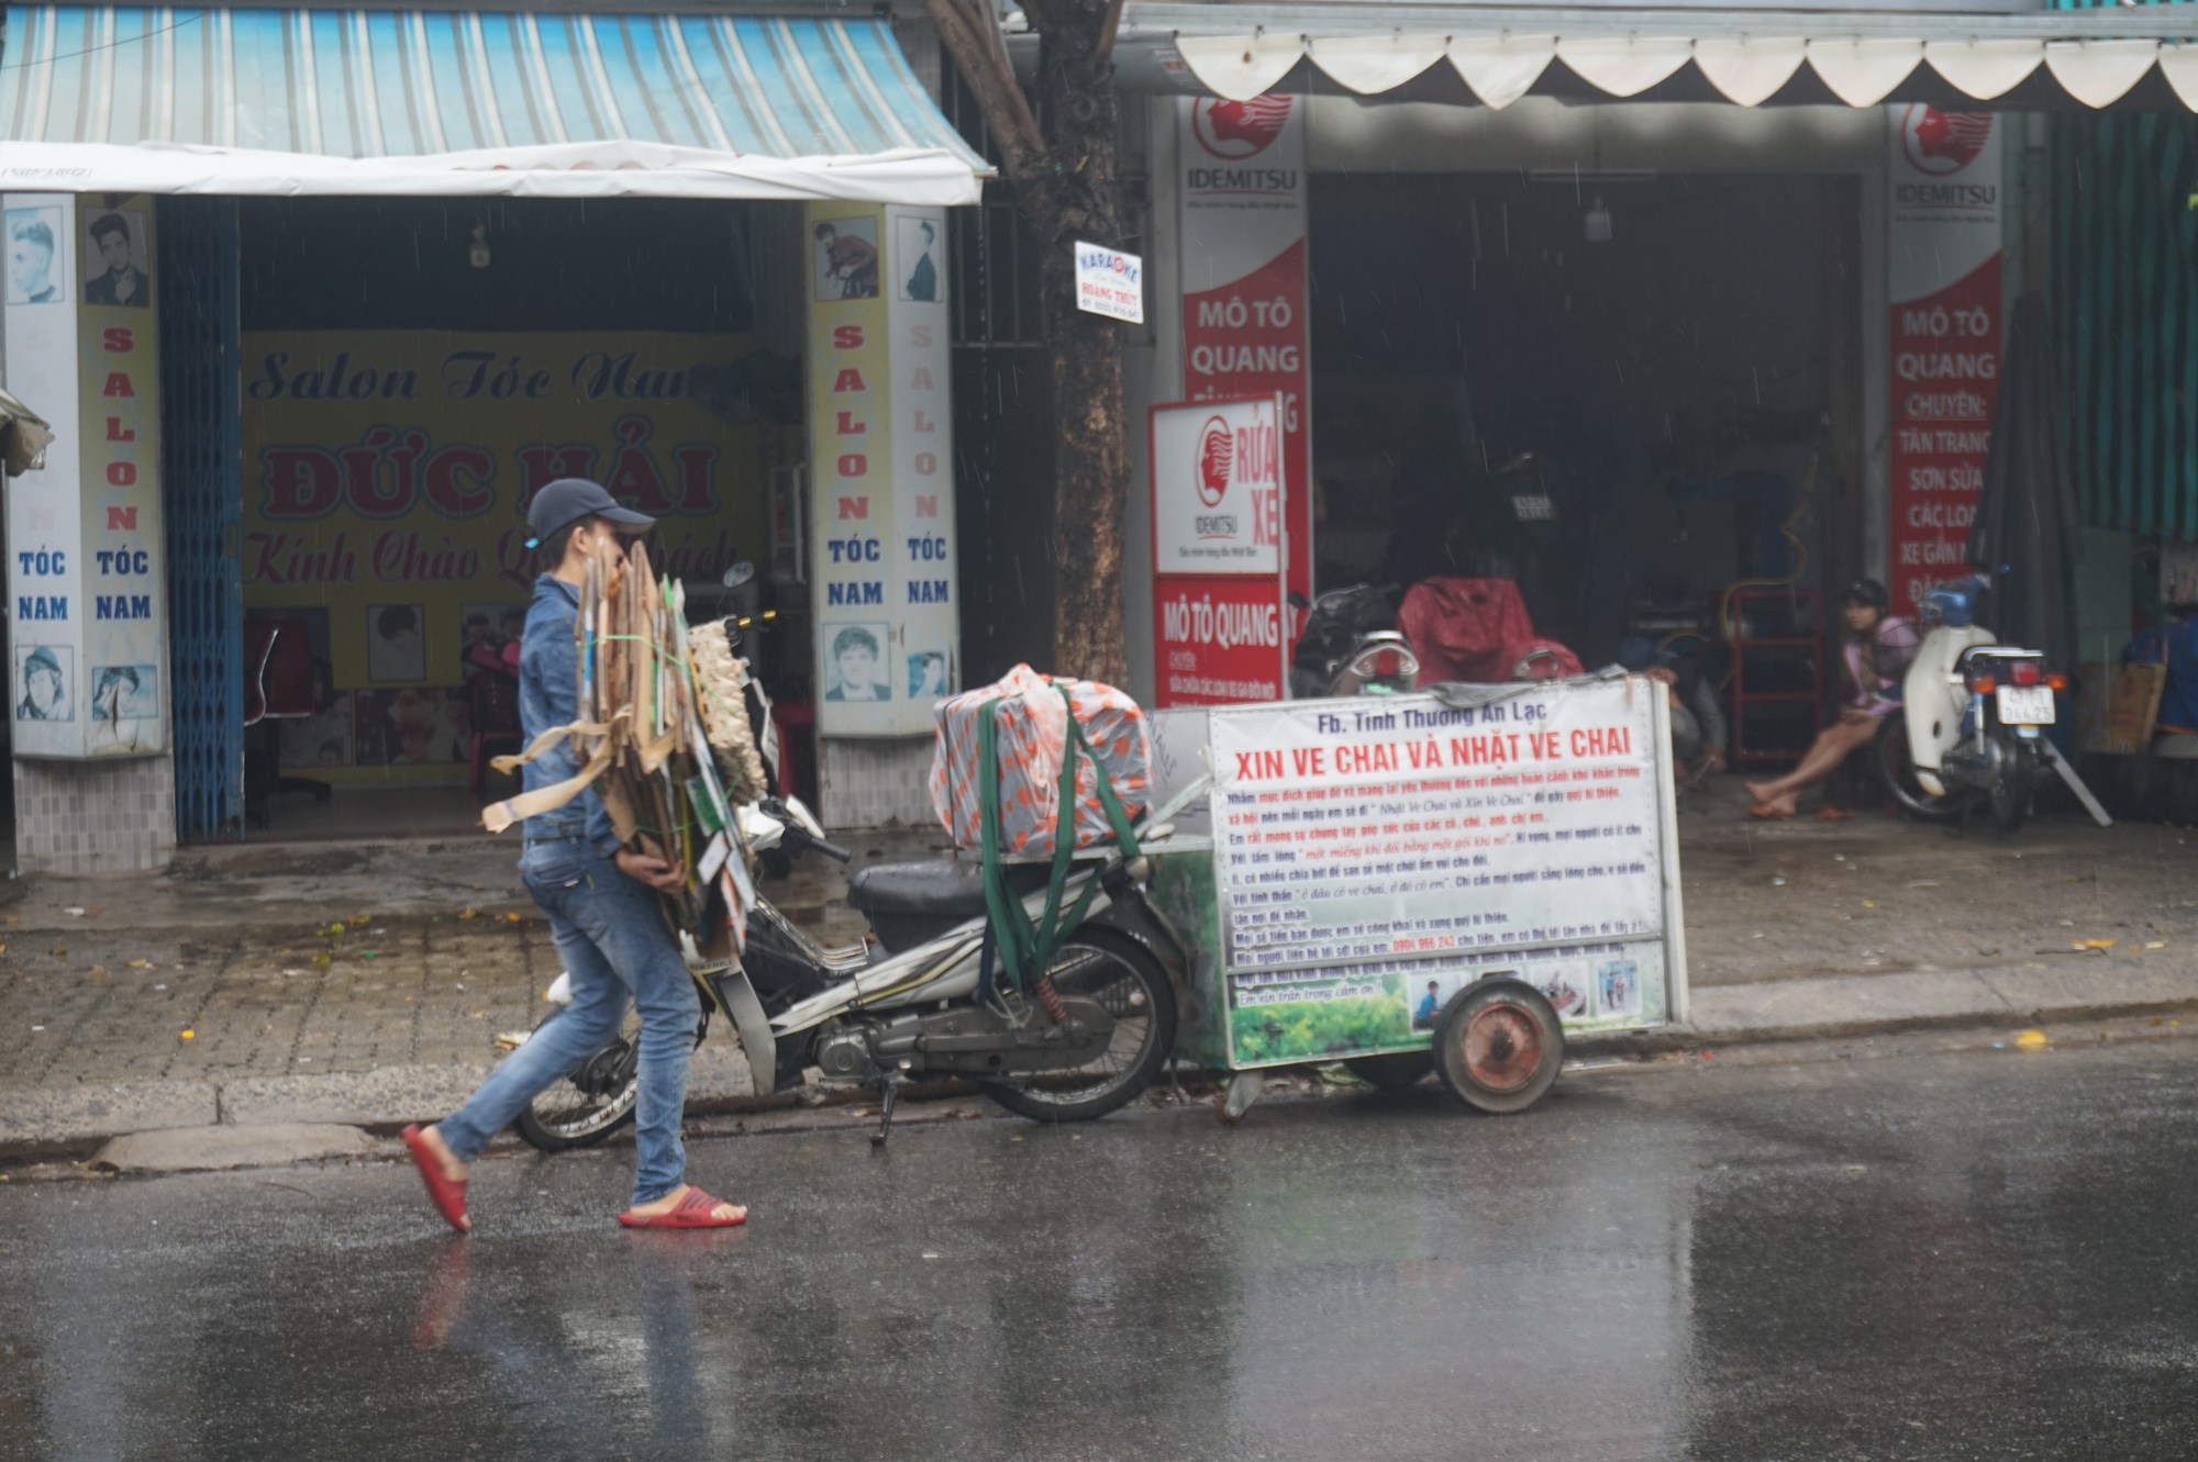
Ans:
POLYGON ((976 202, 884 20, 9 7, 0 187, 976 202))

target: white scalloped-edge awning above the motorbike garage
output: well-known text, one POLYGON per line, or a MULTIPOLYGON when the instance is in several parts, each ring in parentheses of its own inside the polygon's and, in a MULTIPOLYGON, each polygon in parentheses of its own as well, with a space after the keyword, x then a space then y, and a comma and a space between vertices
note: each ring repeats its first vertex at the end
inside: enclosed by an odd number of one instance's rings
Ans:
MULTIPOLYGON (((2198 7, 1969 13, 1923 4, 1477 4, 1444 0, 1130 0, 1119 48, 1165 46, 1158 68, 1248 101, 1303 90, 1398 92, 1455 72, 1473 101, 1563 94, 1870 108, 1925 88, 1945 101, 2055 110, 2143 97, 2198 110, 2198 7), (1572 86, 1565 86, 1572 83, 1572 86), (2158 92, 2154 90, 2154 97, 2158 92)), ((1453 83, 1453 86, 1455 86, 1453 83)))

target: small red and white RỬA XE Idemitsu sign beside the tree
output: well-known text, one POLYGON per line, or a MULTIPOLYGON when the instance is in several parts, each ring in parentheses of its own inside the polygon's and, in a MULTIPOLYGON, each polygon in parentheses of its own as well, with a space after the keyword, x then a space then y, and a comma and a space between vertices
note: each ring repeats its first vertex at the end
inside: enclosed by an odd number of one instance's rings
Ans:
POLYGON ((1281 700, 1284 402, 1154 406, 1152 628, 1158 705, 1281 700))

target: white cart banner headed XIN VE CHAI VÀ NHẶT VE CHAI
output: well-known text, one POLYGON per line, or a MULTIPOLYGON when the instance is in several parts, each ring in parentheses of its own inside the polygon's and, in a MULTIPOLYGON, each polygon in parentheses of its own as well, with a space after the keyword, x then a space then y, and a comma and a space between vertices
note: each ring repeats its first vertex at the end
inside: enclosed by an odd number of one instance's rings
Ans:
POLYGON ((1424 1045, 1492 972, 1567 1025, 1659 1021, 1662 735, 1638 678, 1215 711, 1235 1065, 1424 1045))

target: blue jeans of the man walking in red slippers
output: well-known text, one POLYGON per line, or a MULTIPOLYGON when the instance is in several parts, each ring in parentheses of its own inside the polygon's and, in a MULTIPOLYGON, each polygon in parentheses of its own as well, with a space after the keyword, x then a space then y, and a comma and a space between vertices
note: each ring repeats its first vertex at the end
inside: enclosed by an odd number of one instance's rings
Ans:
POLYGON ((519 878, 550 915, 550 935, 571 975, 571 1005, 506 1056, 437 1131, 451 1152, 470 1163, 539 1091, 571 1076, 618 1034, 631 997, 642 1012, 633 1201, 653 1203, 686 1174, 679 1117, 701 1025, 695 979, 655 891, 626 878, 582 839, 530 845, 519 858, 519 878))

